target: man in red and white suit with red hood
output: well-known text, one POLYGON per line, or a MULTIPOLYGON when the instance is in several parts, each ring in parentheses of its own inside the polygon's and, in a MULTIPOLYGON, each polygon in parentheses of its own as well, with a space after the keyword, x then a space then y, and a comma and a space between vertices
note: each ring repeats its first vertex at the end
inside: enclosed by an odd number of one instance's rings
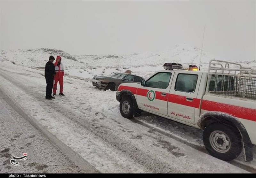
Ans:
POLYGON ((60 83, 60 95, 63 94, 63 76, 64 76, 64 66, 61 63, 61 57, 57 56, 56 62, 54 63, 56 75, 54 76, 54 85, 53 85, 53 96, 56 96, 57 83, 60 83))

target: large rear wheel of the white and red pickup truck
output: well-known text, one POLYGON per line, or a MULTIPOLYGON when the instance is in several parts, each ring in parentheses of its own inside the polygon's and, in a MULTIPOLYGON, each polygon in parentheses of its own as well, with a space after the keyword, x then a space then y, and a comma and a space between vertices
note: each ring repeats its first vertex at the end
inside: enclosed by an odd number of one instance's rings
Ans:
POLYGON ((203 141, 206 150, 212 156, 224 161, 235 159, 243 148, 239 131, 218 122, 204 129, 203 141))

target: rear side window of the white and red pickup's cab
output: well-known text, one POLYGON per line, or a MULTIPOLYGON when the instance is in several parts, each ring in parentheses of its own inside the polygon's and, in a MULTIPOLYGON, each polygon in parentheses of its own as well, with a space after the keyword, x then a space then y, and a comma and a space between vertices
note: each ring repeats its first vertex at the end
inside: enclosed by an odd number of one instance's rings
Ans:
POLYGON ((196 89, 198 75, 196 74, 178 74, 175 90, 193 93, 196 89))

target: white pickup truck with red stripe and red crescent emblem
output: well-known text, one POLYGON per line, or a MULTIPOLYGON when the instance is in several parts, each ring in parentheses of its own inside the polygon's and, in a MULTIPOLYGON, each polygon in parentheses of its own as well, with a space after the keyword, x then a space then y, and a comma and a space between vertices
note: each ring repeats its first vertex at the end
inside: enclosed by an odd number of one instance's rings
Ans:
POLYGON ((123 83, 116 99, 125 118, 150 112, 195 128, 204 129, 206 150, 225 161, 244 150, 245 161, 253 158, 256 144, 256 70, 240 64, 211 60, 208 72, 183 70, 165 63, 141 83, 123 83))

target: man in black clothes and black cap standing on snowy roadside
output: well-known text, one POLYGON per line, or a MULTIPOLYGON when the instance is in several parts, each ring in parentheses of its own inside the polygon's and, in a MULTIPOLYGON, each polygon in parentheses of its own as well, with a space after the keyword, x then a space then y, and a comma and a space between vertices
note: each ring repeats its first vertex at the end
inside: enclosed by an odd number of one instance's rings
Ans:
POLYGON ((52 98, 55 98, 55 97, 52 97, 53 79, 54 79, 54 75, 56 74, 53 61, 54 61, 54 57, 50 56, 49 61, 46 63, 45 69, 44 69, 44 77, 46 80, 45 99, 50 99, 50 100, 52 100, 52 98))

